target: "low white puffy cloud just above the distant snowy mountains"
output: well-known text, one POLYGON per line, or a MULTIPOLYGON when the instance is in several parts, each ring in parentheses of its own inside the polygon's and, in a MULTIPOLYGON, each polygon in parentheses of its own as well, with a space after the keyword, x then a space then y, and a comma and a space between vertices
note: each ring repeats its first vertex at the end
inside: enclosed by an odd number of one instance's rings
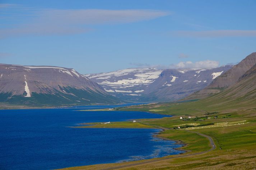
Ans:
POLYGON ((157 69, 177 69, 177 68, 216 68, 219 67, 219 62, 214 60, 204 60, 198 62, 180 62, 177 64, 169 64, 169 65, 151 65, 147 63, 130 63, 135 67, 140 68, 157 68, 157 69))

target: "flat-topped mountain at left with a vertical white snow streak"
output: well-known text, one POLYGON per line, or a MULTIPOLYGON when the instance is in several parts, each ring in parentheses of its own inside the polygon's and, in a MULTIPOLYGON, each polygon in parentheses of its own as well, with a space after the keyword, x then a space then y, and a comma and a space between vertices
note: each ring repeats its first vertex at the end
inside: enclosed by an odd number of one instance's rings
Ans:
POLYGON ((58 106, 120 99, 74 69, 0 64, 0 102, 58 106))

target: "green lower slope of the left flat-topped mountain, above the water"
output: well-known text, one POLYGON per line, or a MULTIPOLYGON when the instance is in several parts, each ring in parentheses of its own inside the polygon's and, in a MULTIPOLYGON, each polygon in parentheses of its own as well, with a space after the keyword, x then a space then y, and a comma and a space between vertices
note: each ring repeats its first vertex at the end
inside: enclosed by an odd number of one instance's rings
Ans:
MULTIPOLYGON (((35 93, 32 92, 31 97, 11 96, 11 93, 0 93, 0 104, 5 107, 54 107, 54 106, 68 106, 68 105, 92 105, 92 104, 117 104, 122 101, 109 94, 102 92, 95 92, 91 89, 76 89, 72 87, 61 87, 66 93, 55 89, 54 94, 35 93), (3 103, 5 102, 5 103, 3 103)), ((1 106, 0 106, 1 108, 1 106)))

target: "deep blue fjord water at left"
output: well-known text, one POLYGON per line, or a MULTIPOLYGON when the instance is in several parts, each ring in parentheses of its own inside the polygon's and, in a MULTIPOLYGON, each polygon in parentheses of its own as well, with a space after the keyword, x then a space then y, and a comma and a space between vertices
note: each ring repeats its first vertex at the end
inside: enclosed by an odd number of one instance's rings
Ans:
POLYGON ((0 110, 0 169, 57 169, 182 153, 173 149, 181 146, 174 141, 153 137, 157 129, 68 127, 164 115, 77 110, 0 110))

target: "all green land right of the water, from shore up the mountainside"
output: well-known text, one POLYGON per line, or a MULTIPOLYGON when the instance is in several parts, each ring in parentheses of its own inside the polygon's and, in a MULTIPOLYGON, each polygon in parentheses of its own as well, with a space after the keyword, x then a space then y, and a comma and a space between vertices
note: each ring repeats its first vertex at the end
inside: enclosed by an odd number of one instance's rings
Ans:
MULTIPOLYGON (((255 59, 255 53, 248 58, 255 59)), ((239 68, 238 63, 225 77, 230 77, 239 68)), ((172 103, 113 108, 118 111, 142 111, 173 115, 160 119, 140 119, 133 122, 89 123, 80 128, 160 128, 159 138, 182 141, 181 149, 187 152, 179 156, 160 159, 65 168, 76 169, 253 169, 256 167, 256 64, 246 70, 229 87, 209 93, 202 99, 172 103)), ((220 75, 213 83, 218 84, 220 75)), ((231 79, 231 82, 233 79, 231 79)), ((209 89, 206 87, 205 89, 209 89)), ((192 94, 193 95, 193 94, 192 94)))

